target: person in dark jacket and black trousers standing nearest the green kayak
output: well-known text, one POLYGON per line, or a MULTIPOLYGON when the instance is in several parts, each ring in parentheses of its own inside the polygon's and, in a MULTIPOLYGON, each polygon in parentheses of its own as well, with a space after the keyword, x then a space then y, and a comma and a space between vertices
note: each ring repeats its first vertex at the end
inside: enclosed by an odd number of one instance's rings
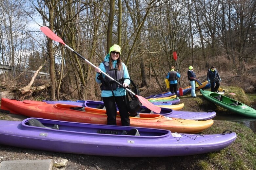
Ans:
POLYGON ((207 80, 211 83, 211 92, 217 92, 219 93, 218 89, 220 87, 220 81, 221 77, 214 66, 211 66, 211 68, 207 72, 207 80), (216 86, 214 87, 214 83, 216 83, 216 86))

